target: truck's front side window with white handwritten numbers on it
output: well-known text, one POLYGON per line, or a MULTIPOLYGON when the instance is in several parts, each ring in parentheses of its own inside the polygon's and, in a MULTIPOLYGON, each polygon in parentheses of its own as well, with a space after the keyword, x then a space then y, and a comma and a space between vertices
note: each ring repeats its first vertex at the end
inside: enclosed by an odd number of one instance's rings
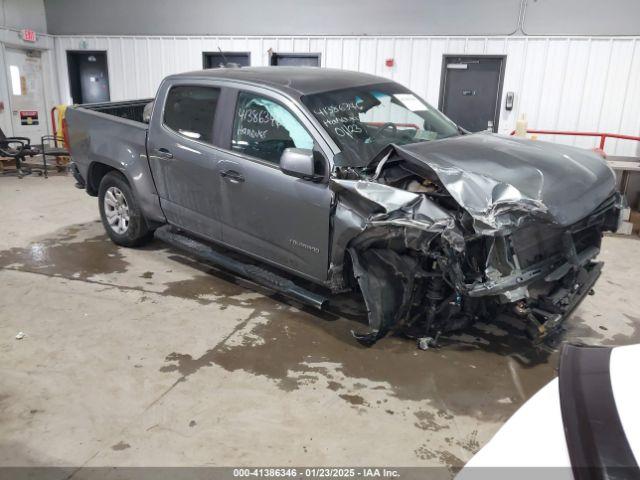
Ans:
POLYGON ((285 107, 273 100, 240 92, 231 149, 280 163, 285 148, 313 149, 313 138, 285 107))

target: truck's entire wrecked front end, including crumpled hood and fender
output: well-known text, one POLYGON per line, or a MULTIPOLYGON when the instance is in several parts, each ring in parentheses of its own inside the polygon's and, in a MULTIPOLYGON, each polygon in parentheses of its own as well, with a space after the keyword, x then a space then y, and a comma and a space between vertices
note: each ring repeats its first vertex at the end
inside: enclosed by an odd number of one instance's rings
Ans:
POLYGON ((449 140, 446 153, 439 143, 390 146, 332 180, 337 241, 360 232, 344 273, 357 281, 370 328, 354 335, 371 345, 396 332, 428 348, 443 333, 508 315, 544 338, 600 275, 603 232, 618 225, 613 174, 569 147, 549 159, 541 142, 472 135, 449 140))

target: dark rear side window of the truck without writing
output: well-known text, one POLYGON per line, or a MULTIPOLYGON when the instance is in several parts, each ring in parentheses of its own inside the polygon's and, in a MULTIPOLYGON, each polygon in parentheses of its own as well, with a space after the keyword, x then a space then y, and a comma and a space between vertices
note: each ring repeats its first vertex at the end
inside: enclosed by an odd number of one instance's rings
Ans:
POLYGON ((219 88, 173 87, 164 107, 164 124, 185 137, 213 143, 213 119, 218 98, 219 88))

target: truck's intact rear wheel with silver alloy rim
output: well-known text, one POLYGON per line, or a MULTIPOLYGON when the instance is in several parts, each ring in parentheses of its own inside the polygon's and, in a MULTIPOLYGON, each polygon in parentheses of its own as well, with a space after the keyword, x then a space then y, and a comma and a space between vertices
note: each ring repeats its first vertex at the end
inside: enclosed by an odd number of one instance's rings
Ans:
POLYGON ((142 215, 129 183, 119 172, 107 173, 98 189, 102 225, 113 243, 137 247, 151 239, 152 232, 142 215))

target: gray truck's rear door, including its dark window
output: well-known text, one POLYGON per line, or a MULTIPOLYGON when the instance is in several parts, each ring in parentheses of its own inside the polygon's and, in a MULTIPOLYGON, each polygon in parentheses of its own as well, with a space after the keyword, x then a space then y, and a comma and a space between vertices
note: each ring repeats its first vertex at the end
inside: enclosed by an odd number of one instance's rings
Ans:
POLYGON ((225 90, 193 83, 158 92, 147 151, 160 205, 172 225, 220 240, 220 150, 215 147, 225 90), (159 107, 158 107, 159 106, 159 107))

